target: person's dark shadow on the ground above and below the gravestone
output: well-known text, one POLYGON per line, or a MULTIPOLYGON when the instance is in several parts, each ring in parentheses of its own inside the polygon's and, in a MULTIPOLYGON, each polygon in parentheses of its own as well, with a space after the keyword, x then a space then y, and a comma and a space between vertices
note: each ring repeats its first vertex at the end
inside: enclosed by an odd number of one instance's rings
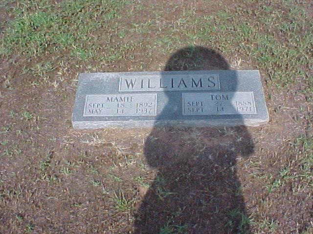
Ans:
MULTIPOLYGON (((229 65, 214 50, 195 46, 168 60, 165 71, 180 70, 229 70, 229 65)), ((173 92, 165 91, 169 99, 173 92)), ((244 126, 154 127, 144 153, 157 175, 136 213, 134 233, 250 233, 236 160, 253 152, 251 142, 244 126)))

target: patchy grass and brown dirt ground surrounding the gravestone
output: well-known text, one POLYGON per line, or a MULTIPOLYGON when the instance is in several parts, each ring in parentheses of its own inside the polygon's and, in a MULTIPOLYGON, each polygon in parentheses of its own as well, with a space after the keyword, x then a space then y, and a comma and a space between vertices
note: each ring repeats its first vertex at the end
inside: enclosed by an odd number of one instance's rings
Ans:
POLYGON ((312 21, 301 0, 2 0, 0 233, 312 234, 312 21), (268 124, 73 130, 78 73, 197 46, 260 70, 268 124))

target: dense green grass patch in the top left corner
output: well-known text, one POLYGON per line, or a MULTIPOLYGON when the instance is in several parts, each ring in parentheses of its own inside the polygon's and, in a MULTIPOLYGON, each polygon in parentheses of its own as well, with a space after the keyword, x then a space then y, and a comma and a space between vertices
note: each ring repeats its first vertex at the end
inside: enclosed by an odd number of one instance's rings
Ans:
POLYGON ((19 1, 11 8, 15 19, 8 22, 1 39, 4 55, 22 53, 27 57, 47 50, 69 50, 80 59, 92 57, 91 34, 119 17, 125 0, 19 1), (42 5, 42 7, 38 7, 42 5))

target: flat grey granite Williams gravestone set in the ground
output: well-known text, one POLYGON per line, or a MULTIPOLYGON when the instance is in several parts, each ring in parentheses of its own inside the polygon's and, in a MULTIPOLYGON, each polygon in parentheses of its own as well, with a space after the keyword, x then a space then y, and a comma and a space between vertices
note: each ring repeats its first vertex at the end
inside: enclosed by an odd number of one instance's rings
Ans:
POLYGON ((258 70, 82 73, 72 116, 74 129, 267 122, 258 70))

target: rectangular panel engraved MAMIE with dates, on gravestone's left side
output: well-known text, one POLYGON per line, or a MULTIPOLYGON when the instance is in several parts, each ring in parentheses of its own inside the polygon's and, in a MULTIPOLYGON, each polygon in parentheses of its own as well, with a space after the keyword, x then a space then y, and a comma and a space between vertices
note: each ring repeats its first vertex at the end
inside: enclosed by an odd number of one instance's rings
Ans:
POLYGON ((84 116, 155 116, 156 94, 87 95, 84 116))

